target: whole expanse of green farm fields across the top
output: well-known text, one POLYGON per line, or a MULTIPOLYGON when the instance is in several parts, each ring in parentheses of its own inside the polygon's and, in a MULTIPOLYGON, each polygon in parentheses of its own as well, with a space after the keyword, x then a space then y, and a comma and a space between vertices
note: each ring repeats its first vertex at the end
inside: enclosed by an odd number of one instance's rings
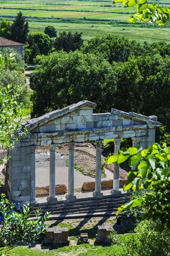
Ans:
MULTIPOLYGON (((151 1, 150 1, 151 2, 151 1)), ((157 2, 157 1, 156 1, 157 2)), ((160 6, 170 6, 169 0, 160 0, 160 6)), ((103 36, 108 33, 120 34, 127 38, 143 41, 170 41, 170 29, 161 28, 141 28, 129 24, 130 13, 134 13, 135 7, 124 8, 122 3, 113 5, 107 0, 12 0, 0 1, 0 16, 9 17, 10 20, 17 15, 19 11, 29 20, 30 33, 44 32, 48 23, 54 26, 58 33, 62 31, 82 32, 84 40, 94 36, 103 36), (65 19, 72 18, 73 22, 62 22, 65 19), (86 18, 86 19, 85 19, 86 18), (48 20, 45 20, 48 19, 48 20), (89 23, 90 19, 91 23, 89 23), (78 20, 83 20, 78 24, 78 20), (109 20, 116 20, 118 25, 109 25, 109 20), (39 22, 40 21, 40 22, 39 22), (101 24, 101 21, 104 24, 101 24), (124 25, 119 25, 124 23, 124 25), (126 25, 125 25, 126 24, 126 25)))

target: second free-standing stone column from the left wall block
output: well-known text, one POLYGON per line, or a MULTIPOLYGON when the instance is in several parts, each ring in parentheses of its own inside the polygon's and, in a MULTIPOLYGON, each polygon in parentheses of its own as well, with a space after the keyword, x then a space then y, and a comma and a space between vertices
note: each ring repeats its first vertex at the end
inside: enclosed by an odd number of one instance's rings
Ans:
POLYGON ((74 142, 68 143, 68 194, 65 196, 69 201, 76 201, 74 195, 74 142))

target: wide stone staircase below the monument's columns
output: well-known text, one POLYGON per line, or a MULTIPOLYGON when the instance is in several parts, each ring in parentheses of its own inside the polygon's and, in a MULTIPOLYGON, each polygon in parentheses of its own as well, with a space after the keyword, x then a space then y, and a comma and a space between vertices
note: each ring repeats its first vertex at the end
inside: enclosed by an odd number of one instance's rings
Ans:
POLYGON ((35 217, 34 211, 39 208, 41 215, 50 211, 50 219, 59 218, 81 218, 92 216, 115 216, 120 205, 128 202, 125 195, 119 197, 104 196, 103 199, 81 198, 76 202, 58 201, 35 203, 31 209, 32 218, 35 217))

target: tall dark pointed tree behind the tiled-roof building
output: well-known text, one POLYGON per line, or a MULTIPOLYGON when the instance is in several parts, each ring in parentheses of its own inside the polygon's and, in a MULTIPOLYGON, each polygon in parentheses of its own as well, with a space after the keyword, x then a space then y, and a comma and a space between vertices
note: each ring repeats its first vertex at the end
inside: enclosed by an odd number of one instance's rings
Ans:
POLYGON ((28 21, 25 21, 22 13, 19 12, 11 27, 11 39, 20 43, 25 43, 29 32, 28 21))

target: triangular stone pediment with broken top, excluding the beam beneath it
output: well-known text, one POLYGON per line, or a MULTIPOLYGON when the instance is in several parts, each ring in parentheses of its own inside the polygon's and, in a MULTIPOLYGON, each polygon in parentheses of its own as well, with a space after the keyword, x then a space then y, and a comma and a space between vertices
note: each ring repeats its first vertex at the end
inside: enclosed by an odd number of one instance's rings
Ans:
MULTIPOLYGON (((156 116, 145 116, 134 112, 124 112, 112 108, 111 113, 93 114, 96 104, 80 101, 66 108, 54 110, 38 118, 27 121, 26 128, 31 133, 53 133, 65 131, 88 132, 104 128, 110 131, 136 130, 161 126, 156 116), (83 130, 83 131, 82 131, 83 130)), ((102 131, 101 131, 102 132, 102 131)))

